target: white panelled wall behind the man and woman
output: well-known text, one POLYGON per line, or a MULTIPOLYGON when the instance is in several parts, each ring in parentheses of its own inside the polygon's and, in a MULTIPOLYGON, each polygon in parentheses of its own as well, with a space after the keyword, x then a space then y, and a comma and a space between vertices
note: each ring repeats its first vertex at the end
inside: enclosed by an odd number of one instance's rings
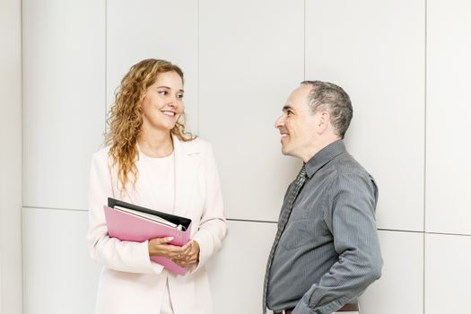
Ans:
POLYGON ((274 121, 304 79, 350 93, 346 143, 379 184, 385 266, 362 313, 466 309, 470 13, 464 0, 23 0, 24 313, 92 312, 90 156, 122 75, 146 57, 181 65, 188 125, 214 144, 230 220, 209 265, 216 313, 259 312, 300 166, 274 121))

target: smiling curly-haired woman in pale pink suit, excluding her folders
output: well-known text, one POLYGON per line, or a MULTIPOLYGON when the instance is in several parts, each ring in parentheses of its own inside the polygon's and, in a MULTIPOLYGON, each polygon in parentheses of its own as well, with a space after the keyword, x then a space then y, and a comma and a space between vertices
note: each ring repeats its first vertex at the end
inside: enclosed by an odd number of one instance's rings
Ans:
POLYGON ((108 146, 92 157, 87 240, 104 266, 96 313, 212 313, 205 263, 226 232, 222 193, 211 145, 188 135, 183 118, 179 67, 156 59, 133 65, 109 113, 108 146), (110 238, 109 196, 190 218, 192 240, 176 247, 170 238, 110 238), (187 275, 169 273, 153 255, 187 267, 187 275))

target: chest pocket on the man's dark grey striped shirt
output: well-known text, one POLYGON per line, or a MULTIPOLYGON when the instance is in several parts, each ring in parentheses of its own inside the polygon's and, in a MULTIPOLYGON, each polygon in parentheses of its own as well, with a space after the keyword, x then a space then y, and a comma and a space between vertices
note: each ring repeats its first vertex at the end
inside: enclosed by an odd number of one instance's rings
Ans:
POLYGON ((298 249, 311 240, 312 221, 309 219, 288 222, 280 239, 283 249, 298 249))

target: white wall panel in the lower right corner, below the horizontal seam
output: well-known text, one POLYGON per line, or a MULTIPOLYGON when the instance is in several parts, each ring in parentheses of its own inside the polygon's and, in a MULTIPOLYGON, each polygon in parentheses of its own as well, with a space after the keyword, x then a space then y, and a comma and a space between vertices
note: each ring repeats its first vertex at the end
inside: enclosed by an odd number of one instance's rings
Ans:
POLYGON ((425 313, 469 313, 471 237, 425 235, 425 313))

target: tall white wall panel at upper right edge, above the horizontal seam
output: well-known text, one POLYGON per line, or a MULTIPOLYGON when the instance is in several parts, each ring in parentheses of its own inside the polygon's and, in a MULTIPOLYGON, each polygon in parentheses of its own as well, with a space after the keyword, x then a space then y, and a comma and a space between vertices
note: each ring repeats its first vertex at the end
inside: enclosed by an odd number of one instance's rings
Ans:
POLYGON ((427 12, 426 230, 471 234, 471 3, 429 0, 427 12))

